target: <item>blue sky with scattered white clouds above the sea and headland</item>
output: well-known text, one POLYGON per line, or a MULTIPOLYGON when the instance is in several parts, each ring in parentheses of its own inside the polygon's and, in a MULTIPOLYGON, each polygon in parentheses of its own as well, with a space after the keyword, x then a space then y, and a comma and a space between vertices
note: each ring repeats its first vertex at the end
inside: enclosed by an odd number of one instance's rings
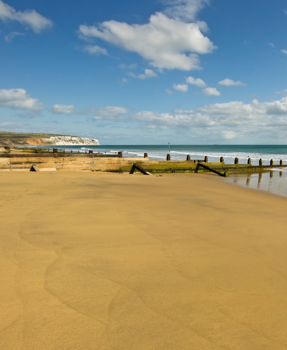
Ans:
POLYGON ((287 3, 0 0, 0 130, 287 144, 287 3))

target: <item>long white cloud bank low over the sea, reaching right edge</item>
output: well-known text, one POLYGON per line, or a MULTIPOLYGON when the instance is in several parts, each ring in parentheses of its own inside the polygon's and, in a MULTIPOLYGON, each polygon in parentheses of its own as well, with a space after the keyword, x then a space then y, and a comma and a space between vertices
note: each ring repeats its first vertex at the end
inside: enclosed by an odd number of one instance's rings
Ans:
POLYGON ((141 111, 132 116, 140 124, 152 126, 153 130, 192 131, 193 135, 202 132, 209 137, 231 140, 250 135, 265 134, 274 138, 286 137, 287 97, 273 102, 260 103, 254 99, 245 104, 240 101, 216 103, 194 110, 175 110, 172 113, 141 111))

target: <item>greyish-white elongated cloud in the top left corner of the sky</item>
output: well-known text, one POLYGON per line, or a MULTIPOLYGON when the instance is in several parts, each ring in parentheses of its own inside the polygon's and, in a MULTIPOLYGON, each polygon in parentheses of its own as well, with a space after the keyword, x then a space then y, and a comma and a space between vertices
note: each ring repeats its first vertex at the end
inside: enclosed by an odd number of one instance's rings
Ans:
POLYGON ((0 20, 2 21, 18 21, 26 25, 39 34, 42 30, 51 28, 53 22, 36 12, 35 10, 16 11, 12 6, 7 5, 0 0, 0 20))

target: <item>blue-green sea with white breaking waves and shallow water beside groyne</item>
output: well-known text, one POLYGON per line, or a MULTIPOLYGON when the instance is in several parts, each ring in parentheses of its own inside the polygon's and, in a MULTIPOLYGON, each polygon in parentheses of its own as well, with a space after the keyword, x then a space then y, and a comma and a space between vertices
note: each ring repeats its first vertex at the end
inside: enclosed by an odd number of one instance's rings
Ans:
MULTIPOLYGON (((273 159, 274 165, 287 165, 287 145, 103 145, 103 146, 35 146, 35 148, 58 148, 66 151, 80 153, 92 150, 94 153, 117 154, 122 152, 123 157, 142 157, 147 153, 151 160, 166 160, 170 154, 171 160, 186 160, 187 155, 191 159, 204 159, 208 162, 219 162, 223 157, 225 164, 234 164, 238 158, 239 164, 246 164, 251 158, 252 165, 270 165, 273 159)), ((246 172, 242 174, 230 174, 224 181, 237 184, 249 189, 260 189, 287 197, 287 167, 268 168, 258 173, 246 172)))

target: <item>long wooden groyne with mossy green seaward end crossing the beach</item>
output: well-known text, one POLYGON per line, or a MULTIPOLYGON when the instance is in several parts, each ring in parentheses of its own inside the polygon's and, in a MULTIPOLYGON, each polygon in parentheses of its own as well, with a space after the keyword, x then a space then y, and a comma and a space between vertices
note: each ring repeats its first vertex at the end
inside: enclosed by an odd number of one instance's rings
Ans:
POLYGON ((147 153, 143 158, 122 158, 122 153, 118 154, 102 154, 102 153, 12 153, 10 149, 0 149, 0 171, 17 171, 30 170, 35 165, 39 171, 45 170, 86 170, 86 171, 112 171, 112 172, 130 172, 132 165, 135 163, 141 169, 148 173, 182 173, 195 172, 198 164, 202 165, 197 169, 198 172, 211 171, 214 172, 258 172, 268 168, 286 167, 282 160, 279 164, 274 164, 270 160, 270 165, 252 165, 251 159, 247 159, 247 163, 239 164, 238 158, 235 158, 234 164, 225 164, 223 157, 219 162, 208 162, 208 157, 204 160, 190 159, 187 155, 186 160, 150 160, 147 153), (209 169, 208 169, 209 168, 209 169))

